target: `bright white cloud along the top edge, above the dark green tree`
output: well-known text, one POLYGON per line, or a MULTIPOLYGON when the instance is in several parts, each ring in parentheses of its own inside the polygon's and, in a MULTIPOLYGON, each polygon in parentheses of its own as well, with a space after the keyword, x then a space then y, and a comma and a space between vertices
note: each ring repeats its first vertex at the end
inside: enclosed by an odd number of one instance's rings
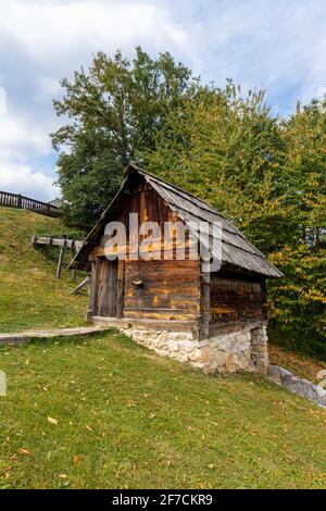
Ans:
POLYGON ((0 32, 18 41, 32 60, 57 67, 75 53, 139 41, 159 49, 191 45, 170 10, 146 0, 11 0, 2 8, 0 32))

